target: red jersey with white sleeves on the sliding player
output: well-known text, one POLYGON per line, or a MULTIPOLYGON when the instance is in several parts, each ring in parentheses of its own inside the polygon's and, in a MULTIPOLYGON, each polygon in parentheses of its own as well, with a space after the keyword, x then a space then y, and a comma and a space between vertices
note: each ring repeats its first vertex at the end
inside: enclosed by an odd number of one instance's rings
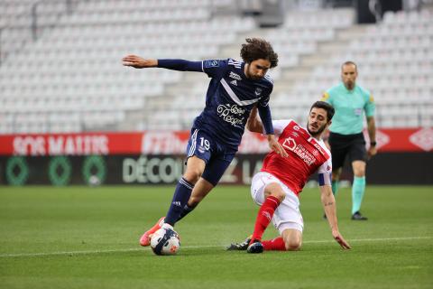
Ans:
POLYGON ((276 120, 272 125, 275 135, 279 136, 278 142, 289 156, 283 157, 272 151, 264 158, 262 172, 276 176, 296 195, 314 172, 318 172, 319 177, 330 178, 331 153, 323 140, 318 141, 291 119, 276 120))

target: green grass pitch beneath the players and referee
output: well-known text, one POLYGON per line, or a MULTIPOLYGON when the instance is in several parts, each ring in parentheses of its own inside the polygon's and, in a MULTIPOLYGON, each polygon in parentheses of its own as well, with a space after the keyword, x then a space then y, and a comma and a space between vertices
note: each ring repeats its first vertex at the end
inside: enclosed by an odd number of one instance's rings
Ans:
MULTIPOLYGON (((433 288, 433 187, 368 186, 350 220, 337 198, 344 251, 322 219, 318 189, 301 193, 299 252, 227 252, 253 230, 248 187, 220 186, 180 221, 177 256, 138 238, 173 187, 0 187, 0 288, 433 288)), ((273 238, 269 227, 264 238, 273 238)))

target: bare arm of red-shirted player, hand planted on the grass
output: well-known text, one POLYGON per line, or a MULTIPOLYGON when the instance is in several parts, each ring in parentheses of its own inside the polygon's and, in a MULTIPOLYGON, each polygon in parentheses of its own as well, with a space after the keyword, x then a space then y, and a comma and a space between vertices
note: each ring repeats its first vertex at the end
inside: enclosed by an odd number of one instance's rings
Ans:
POLYGON ((320 199, 322 200, 323 209, 327 214, 327 221, 329 227, 332 230, 332 237, 336 242, 344 249, 350 249, 349 243, 345 241, 345 238, 338 231, 338 225, 336 223, 336 199, 332 193, 332 187, 328 184, 321 185, 320 187, 320 199))

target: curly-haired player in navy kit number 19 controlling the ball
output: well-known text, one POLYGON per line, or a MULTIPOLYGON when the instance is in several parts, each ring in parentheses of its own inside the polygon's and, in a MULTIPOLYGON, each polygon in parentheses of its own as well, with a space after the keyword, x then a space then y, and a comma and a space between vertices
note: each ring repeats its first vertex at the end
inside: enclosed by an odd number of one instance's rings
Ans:
POLYGON ((165 218, 147 230, 140 244, 150 245, 158 228, 172 228, 197 206, 221 179, 232 162, 244 134, 244 126, 254 106, 263 119, 265 135, 276 154, 287 156, 275 138, 271 110, 272 79, 266 72, 277 66, 278 54, 263 39, 246 39, 242 45, 243 62, 228 60, 185 61, 148 60, 124 57, 124 65, 137 69, 158 67, 169 70, 205 72, 210 79, 206 107, 194 120, 187 147, 187 168, 176 186, 165 218), (194 193, 194 191, 197 193, 194 193), (191 196, 192 191, 192 196, 191 196))

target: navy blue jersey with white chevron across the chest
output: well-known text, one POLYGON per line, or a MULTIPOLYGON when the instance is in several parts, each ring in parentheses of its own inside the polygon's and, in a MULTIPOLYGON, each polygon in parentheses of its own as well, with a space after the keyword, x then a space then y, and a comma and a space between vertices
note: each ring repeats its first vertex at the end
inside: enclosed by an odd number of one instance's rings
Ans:
MULTIPOLYGON (((247 79, 244 62, 202 61, 202 70, 211 78, 206 107, 194 120, 194 127, 206 130, 229 146, 240 144, 251 109, 258 103, 268 107, 273 83, 269 76, 247 79)), ((269 133, 269 132, 268 132, 269 133)))

